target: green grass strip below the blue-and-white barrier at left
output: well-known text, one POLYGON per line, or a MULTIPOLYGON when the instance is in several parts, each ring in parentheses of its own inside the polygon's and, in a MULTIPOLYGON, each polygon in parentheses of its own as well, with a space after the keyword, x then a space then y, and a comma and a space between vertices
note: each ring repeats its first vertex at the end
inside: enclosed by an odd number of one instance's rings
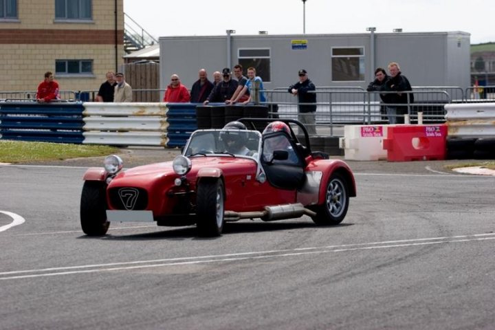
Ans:
POLYGON ((20 142, 0 140, 1 163, 43 162, 118 153, 118 148, 91 144, 20 142))

